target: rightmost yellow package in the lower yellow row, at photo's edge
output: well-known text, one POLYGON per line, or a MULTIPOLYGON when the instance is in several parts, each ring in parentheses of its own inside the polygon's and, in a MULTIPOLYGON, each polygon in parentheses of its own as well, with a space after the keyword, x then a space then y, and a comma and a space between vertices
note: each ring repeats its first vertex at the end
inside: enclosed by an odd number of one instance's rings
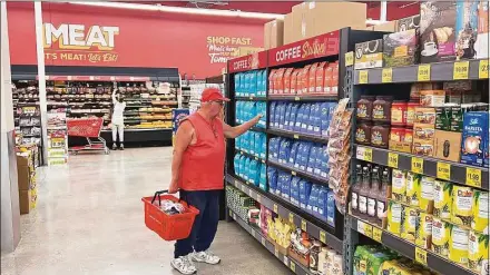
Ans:
POLYGON ((468 239, 468 267, 477 274, 484 274, 489 258, 489 235, 483 235, 474 230, 470 230, 468 239))

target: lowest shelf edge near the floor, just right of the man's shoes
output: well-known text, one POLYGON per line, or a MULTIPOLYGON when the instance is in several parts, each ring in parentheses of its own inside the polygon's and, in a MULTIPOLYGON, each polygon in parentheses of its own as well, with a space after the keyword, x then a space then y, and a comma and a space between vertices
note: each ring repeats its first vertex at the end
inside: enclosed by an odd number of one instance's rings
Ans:
POLYGON ((282 254, 278 252, 274 244, 268 240, 267 237, 264 237, 262 235, 262 232, 258 228, 254 228, 253 226, 248 225, 245 220, 239 218, 232 209, 229 209, 229 216, 239 225, 242 226, 248 234, 251 234, 257 242, 259 242, 267 251, 274 256, 276 256, 277 259, 280 259, 284 265, 290 267, 290 269, 293 272, 293 274, 297 275, 313 275, 313 273, 310 272, 310 268, 307 266, 303 266, 302 264, 297 263, 295 259, 287 257, 287 255, 282 254))

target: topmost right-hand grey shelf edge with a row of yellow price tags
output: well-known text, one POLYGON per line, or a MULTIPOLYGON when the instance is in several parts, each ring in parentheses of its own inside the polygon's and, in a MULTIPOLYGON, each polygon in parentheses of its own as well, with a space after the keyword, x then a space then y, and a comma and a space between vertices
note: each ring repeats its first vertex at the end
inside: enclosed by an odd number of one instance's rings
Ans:
MULTIPOLYGON (((425 68, 427 66, 429 66, 430 68, 430 76, 429 79, 425 81, 451 81, 458 79, 476 80, 476 79, 481 79, 479 72, 480 72, 480 62, 482 60, 484 62, 488 59, 472 59, 472 60, 448 61, 448 62, 435 62, 435 63, 420 63, 420 65, 395 67, 395 68, 375 68, 375 69, 355 70, 354 85, 419 82, 419 67, 424 68, 424 66, 425 68), (469 67, 468 77, 454 79, 454 65, 457 66, 468 65, 469 67), (390 71, 390 69, 391 69, 391 81, 389 81, 390 79, 389 77, 386 78, 386 75, 383 78, 383 70, 386 72, 390 71), (362 73, 367 73, 366 80, 360 79, 362 73)), ((390 72, 388 72, 388 76, 389 75, 390 72)))

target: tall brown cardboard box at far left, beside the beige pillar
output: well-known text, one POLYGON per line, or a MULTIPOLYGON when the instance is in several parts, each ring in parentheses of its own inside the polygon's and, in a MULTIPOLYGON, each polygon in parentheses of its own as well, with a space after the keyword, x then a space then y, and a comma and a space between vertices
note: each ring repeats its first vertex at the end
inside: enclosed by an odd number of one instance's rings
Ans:
POLYGON ((33 156, 31 150, 17 155, 20 214, 29 214, 36 208, 38 191, 33 156))

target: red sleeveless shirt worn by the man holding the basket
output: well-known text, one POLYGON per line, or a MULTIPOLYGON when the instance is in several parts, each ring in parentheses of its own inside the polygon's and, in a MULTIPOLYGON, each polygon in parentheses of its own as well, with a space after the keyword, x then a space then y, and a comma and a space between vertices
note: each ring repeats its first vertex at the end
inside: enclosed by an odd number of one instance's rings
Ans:
POLYGON ((184 121, 193 125, 197 141, 184 151, 179 175, 180 189, 223 189, 225 176, 223 122, 218 118, 208 122, 198 112, 190 115, 184 121))

